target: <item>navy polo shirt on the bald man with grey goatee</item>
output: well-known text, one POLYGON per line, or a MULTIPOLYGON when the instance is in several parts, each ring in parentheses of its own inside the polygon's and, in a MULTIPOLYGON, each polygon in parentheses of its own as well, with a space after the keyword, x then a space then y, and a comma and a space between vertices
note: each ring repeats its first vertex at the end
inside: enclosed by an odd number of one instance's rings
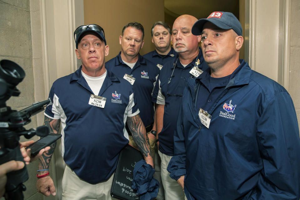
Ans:
POLYGON ((202 51, 200 49, 198 57, 186 67, 182 66, 178 56, 175 57, 173 61, 167 62, 160 70, 160 75, 157 84, 155 85, 152 101, 157 104, 165 104, 163 128, 158 135, 159 150, 168 156, 174 156, 173 136, 176 128, 183 90, 186 87, 185 79, 190 77, 195 78, 190 74, 190 70, 195 66, 197 59, 200 60, 198 68, 202 71, 206 70, 208 66, 204 61, 202 51), (176 67, 174 69, 175 63, 176 67), (171 77, 172 72, 173 75, 171 77), (169 79, 170 83, 168 84, 169 79), (159 90, 161 91, 161 95, 158 94, 160 93, 159 90), (161 99, 160 96, 165 100, 161 99))

